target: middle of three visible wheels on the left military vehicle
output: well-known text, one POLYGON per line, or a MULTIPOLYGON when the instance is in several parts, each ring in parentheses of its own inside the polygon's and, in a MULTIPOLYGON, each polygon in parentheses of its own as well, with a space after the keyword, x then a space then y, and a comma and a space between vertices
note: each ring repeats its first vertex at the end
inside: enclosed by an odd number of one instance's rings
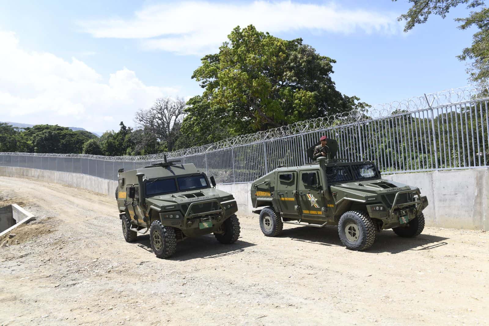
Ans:
POLYGON ((151 248, 158 258, 168 258, 177 251, 175 228, 163 226, 159 220, 151 223, 150 241, 151 248))

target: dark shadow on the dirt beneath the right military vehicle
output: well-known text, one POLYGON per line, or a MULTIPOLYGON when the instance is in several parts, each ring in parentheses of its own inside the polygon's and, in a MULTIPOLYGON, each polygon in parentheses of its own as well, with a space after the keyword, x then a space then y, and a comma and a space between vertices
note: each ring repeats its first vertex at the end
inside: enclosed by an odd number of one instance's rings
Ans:
MULTIPOLYGON (((279 237, 324 246, 344 247, 339 239, 338 228, 336 226, 326 226, 324 228, 309 226, 292 227, 285 229, 279 237)), ((449 238, 428 234, 421 234, 415 238, 401 238, 392 230, 384 230, 377 234, 374 245, 365 250, 365 252, 389 252, 391 254, 398 254, 406 250, 431 250, 448 244, 445 241, 447 239, 449 238)))

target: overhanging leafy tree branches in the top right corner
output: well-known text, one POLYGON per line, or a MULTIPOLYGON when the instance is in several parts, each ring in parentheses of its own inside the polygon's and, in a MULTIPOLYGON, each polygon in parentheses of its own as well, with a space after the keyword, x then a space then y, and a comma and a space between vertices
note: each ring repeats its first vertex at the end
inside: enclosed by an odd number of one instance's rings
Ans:
MULTIPOLYGON (((397 0, 393 0, 397 1, 397 0)), ((478 31, 472 37, 472 45, 462 50, 457 58, 470 61, 467 72, 469 80, 475 83, 489 81, 489 8, 483 0, 408 0, 411 8, 399 17, 406 22, 404 31, 411 30, 416 24, 427 22, 429 16, 438 15, 442 18, 451 8, 460 4, 467 5, 470 15, 467 18, 457 18, 461 22, 460 29, 475 26, 478 31)))

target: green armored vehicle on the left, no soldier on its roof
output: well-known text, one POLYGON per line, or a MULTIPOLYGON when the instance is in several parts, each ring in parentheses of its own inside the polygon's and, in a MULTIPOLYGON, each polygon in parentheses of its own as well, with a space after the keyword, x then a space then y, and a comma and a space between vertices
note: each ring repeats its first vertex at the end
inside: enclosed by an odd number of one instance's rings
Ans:
POLYGON ((187 237, 214 233, 221 243, 238 239, 234 197, 215 189, 214 177, 207 178, 193 164, 167 162, 165 156, 163 163, 121 169, 118 176, 115 197, 124 239, 132 242, 149 230, 156 257, 172 256, 177 242, 187 237))

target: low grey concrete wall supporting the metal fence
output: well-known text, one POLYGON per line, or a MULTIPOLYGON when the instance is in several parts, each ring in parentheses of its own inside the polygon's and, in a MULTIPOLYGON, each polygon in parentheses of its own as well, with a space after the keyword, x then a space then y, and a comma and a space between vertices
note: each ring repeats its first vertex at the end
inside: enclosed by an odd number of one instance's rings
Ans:
MULTIPOLYGON (((0 175, 55 182, 114 196, 116 181, 85 174, 2 167, 0 175)), ((489 230, 489 169, 467 169, 407 174, 388 174, 384 179, 420 188, 428 197, 426 226, 489 230)), ((254 216, 251 183, 217 185, 236 198, 240 215, 254 216)))

